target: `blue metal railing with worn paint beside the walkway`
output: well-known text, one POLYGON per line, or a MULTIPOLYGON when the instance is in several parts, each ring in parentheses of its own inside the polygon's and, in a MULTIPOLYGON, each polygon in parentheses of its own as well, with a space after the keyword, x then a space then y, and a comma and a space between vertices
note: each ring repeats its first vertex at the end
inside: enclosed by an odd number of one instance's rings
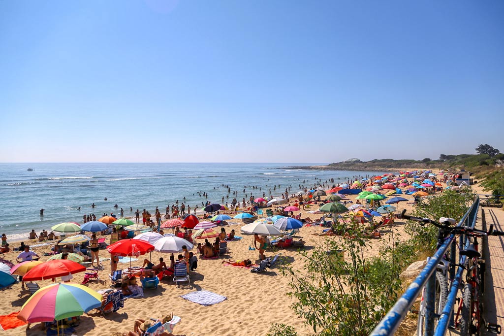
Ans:
MULTIPOLYGON (((462 219, 459 221, 457 226, 467 226, 474 228, 476 223, 477 213, 479 206, 479 198, 476 197, 473 204, 464 214, 462 219)), ((426 286, 425 295, 425 328, 424 336, 431 336, 434 334, 434 305, 435 305, 435 270, 440 260, 445 255, 448 248, 451 246, 451 255, 455 257, 456 246, 452 245, 455 240, 455 235, 450 235, 444 242, 442 246, 436 251, 436 253, 428 260, 427 265, 422 269, 421 273, 416 277, 415 281, 411 283, 406 292, 399 298, 392 309, 385 315, 385 317, 380 321, 380 323, 374 328, 370 333, 370 336, 386 336, 393 335, 396 332, 399 324, 404 319, 409 309, 415 302, 415 299, 422 291, 423 287, 426 286)), ((466 237, 460 237, 460 247, 467 247, 469 241, 466 237)), ((465 256, 461 256, 459 265, 463 265, 465 262, 465 256)), ((452 323, 452 315, 454 310, 455 299, 457 297, 457 292, 460 285, 460 280, 464 269, 458 267, 457 273, 455 273, 455 266, 451 267, 450 274, 453 278, 452 285, 450 287, 450 292, 447 298, 447 303, 443 308, 443 312, 440 315, 439 322, 435 328, 435 335, 442 336, 446 333, 448 325, 452 323)))

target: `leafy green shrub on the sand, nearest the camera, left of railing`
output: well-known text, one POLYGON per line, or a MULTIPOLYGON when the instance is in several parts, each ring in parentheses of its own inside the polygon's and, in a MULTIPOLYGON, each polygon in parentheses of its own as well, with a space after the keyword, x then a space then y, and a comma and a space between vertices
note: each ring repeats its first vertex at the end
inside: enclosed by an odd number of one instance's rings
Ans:
POLYGON ((364 258, 366 241, 354 231, 351 238, 328 239, 311 254, 303 251, 301 271, 286 265, 282 273, 291 277, 296 298, 292 308, 319 335, 367 335, 385 316, 401 289, 399 262, 395 249, 380 257, 364 258), (344 250, 346 258, 328 251, 344 250))

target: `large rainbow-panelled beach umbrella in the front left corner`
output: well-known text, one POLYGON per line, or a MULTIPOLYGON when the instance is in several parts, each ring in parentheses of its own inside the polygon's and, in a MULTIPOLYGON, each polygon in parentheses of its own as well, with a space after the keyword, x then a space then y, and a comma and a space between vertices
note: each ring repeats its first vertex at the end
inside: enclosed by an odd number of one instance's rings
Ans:
POLYGON ((72 283, 52 284, 39 289, 25 302, 18 318, 24 322, 50 322, 80 316, 101 306, 101 294, 72 283))

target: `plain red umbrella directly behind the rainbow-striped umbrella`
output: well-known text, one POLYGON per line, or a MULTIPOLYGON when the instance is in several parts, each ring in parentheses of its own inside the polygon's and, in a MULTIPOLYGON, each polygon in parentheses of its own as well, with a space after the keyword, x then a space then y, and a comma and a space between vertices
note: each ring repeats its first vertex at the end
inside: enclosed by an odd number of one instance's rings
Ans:
POLYGON ((38 281, 52 279, 68 273, 79 273, 86 270, 86 266, 72 260, 56 259, 49 260, 30 269, 23 276, 23 281, 38 281))

